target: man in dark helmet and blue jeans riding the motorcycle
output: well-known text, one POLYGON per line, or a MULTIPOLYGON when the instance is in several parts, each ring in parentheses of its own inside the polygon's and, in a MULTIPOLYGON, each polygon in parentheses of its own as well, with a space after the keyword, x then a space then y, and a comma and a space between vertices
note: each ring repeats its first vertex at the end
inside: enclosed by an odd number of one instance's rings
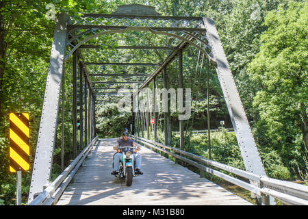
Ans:
MULTIPOLYGON (((137 151, 140 151, 140 146, 138 146, 136 144, 136 142, 134 142, 131 138, 129 138, 128 132, 125 131, 122 135, 122 138, 118 138, 118 140, 116 141, 116 146, 114 146, 114 150, 117 150, 118 147, 122 147, 122 146, 134 146, 137 148, 137 151)), ((120 164, 120 159, 121 159, 121 155, 122 153, 116 153, 114 155, 114 165, 113 165, 113 171, 112 171, 112 175, 118 175, 118 169, 119 169, 119 164, 120 164)), ((136 162, 136 169, 135 169, 135 174, 136 175, 142 175, 143 172, 141 172, 140 170, 140 166, 141 166, 141 155, 138 153, 133 153, 133 158, 136 162)))

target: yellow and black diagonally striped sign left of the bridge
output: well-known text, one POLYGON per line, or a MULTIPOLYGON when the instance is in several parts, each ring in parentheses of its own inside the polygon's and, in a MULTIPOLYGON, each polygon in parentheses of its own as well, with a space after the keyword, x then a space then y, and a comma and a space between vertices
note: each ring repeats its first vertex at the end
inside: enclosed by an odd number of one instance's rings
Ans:
POLYGON ((10 172, 30 168, 29 114, 10 114, 10 172))

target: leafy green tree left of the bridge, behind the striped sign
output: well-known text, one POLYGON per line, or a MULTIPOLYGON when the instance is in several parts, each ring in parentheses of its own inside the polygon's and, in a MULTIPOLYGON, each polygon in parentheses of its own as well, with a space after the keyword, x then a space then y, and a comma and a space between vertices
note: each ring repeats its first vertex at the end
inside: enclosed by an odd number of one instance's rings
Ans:
MULTIPOLYGON (((14 175, 8 172, 9 112, 29 112, 30 144, 35 145, 40 124, 46 75, 55 21, 47 19, 51 1, 0 1, 0 194, 5 203, 14 196, 14 175)), ((52 1, 55 13, 104 12, 101 1, 52 1)), ((30 173, 23 175, 29 189, 30 173)))

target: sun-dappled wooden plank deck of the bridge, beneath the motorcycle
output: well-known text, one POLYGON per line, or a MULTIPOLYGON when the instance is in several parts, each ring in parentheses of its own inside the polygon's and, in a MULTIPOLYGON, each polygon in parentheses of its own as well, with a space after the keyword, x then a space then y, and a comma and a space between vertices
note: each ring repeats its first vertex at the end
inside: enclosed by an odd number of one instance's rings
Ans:
POLYGON ((100 139, 57 205, 253 205, 142 146, 142 172, 127 187, 112 172, 116 139, 100 139))

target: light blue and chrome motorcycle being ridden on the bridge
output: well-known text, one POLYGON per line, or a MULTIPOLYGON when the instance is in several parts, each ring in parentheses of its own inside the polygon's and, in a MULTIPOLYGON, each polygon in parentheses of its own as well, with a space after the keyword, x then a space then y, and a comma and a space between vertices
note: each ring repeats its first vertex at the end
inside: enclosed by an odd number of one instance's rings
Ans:
POLYGON ((135 161, 133 159, 133 153, 136 150, 133 146, 122 146, 118 147, 118 153, 122 153, 120 158, 120 166, 118 179, 125 179, 125 183, 127 186, 131 186, 133 183, 133 177, 136 177, 135 175, 135 161))

